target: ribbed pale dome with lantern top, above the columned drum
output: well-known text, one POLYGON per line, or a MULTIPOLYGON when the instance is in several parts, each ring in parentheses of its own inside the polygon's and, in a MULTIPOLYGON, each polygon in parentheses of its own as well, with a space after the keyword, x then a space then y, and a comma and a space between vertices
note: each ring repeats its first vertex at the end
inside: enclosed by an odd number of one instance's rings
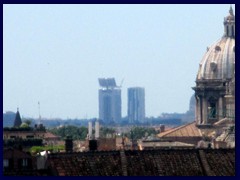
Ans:
POLYGON ((224 36, 207 48, 197 74, 197 80, 231 79, 235 70, 235 16, 232 7, 224 18, 224 36))

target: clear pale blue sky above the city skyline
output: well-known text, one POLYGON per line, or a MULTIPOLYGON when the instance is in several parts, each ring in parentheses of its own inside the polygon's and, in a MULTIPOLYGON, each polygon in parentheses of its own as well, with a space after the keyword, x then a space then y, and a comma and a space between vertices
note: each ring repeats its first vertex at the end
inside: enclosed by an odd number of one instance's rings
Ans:
MULTIPOLYGON (((145 88, 147 116, 186 112, 230 5, 4 5, 3 111, 98 117, 98 78, 145 88)), ((233 5, 235 12, 235 6, 233 5)))

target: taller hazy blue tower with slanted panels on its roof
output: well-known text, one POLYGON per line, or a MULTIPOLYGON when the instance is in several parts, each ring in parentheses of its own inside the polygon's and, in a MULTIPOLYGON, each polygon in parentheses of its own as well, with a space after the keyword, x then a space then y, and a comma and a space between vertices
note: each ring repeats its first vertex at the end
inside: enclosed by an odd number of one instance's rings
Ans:
POLYGON ((120 122, 122 118, 121 89, 114 78, 99 79, 99 119, 105 123, 120 122))

